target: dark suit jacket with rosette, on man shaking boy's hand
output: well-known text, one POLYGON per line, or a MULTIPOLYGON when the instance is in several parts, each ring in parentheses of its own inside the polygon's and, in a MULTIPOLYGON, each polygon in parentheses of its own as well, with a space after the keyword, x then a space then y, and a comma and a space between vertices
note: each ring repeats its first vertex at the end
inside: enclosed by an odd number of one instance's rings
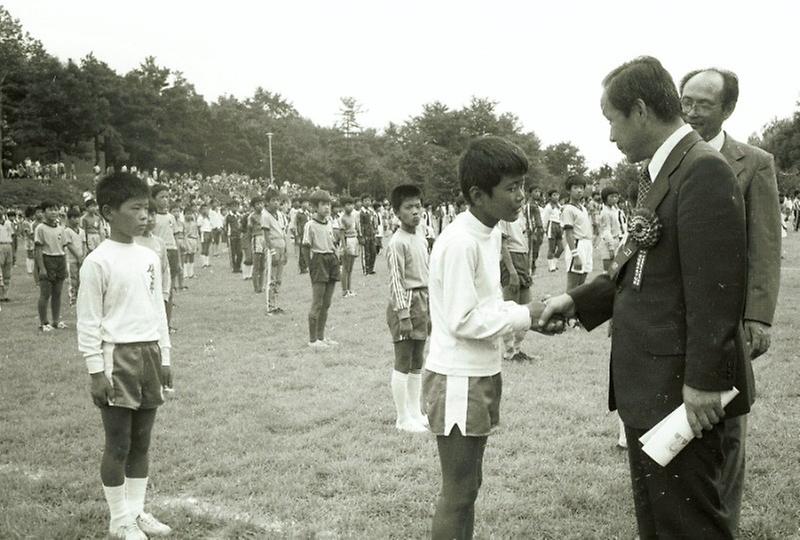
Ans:
POLYGON ((640 290, 630 239, 602 275, 570 292, 588 330, 613 315, 609 407, 649 429, 683 402, 687 384, 741 394, 728 416, 750 410, 753 373, 742 313, 747 275, 741 190, 723 156, 695 133, 667 157, 644 206, 663 229, 647 250, 640 290))

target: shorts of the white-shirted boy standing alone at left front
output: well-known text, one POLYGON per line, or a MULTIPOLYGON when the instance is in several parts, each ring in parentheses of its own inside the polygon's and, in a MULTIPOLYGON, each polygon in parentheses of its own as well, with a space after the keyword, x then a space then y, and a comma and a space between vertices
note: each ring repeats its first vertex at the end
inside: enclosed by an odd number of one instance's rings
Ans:
POLYGON ((114 389, 109 406, 155 409, 164 403, 158 342, 103 343, 103 360, 114 389))

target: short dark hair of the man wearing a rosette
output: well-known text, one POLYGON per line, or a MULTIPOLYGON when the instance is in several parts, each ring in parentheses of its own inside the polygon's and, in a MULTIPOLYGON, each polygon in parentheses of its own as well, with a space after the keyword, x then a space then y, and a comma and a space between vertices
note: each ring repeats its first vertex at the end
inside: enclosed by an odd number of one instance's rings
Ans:
POLYGON ((637 99, 662 122, 681 116, 681 102, 672 76, 656 58, 640 56, 615 68, 603 79, 606 97, 615 109, 630 116, 637 99))

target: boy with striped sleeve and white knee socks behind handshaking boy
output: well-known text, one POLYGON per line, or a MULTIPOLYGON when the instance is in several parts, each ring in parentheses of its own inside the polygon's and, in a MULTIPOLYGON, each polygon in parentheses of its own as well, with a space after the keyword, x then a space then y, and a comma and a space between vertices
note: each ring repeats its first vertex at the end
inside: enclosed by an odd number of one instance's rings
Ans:
POLYGON ((428 431, 420 412, 422 363, 428 339, 428 243, 420 227, 422 192, 414 185, 392 190, 392 208, 400 228, 386 244, 389 266, 389 306, 386 322, 394 344, 392 397, 401 431, 428 431))

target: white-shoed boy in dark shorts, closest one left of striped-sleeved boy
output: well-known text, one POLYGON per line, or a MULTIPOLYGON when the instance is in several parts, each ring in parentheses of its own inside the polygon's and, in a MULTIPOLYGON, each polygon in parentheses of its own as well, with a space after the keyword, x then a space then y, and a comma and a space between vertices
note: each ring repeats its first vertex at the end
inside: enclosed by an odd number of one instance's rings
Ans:
POLYGON ((333 291, 339 281, 339 258, 336 256, 336 239, 331 224, 331 196, 317 190, 311 194, 314 215, 303 231, 303 246, 310 252, 311 310, 308 313, 308 346, 315 351, 338 345, 325 338, 325 323, 331 307, 333 291))

